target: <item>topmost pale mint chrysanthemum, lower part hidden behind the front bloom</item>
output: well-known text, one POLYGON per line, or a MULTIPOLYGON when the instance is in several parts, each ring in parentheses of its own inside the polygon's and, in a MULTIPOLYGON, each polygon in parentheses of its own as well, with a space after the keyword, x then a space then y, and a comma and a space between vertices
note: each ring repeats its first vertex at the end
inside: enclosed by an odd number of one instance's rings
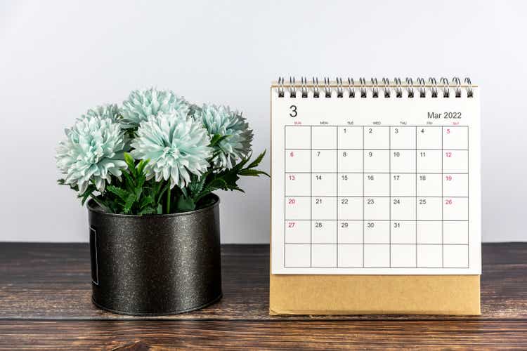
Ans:
POLYGON ((188 114, 188 102, 173 91, 158 91, 157 88, 132 91, 122 104, 121 123, 124 128, 136 128, 150 116, 178 111, 188 114))

